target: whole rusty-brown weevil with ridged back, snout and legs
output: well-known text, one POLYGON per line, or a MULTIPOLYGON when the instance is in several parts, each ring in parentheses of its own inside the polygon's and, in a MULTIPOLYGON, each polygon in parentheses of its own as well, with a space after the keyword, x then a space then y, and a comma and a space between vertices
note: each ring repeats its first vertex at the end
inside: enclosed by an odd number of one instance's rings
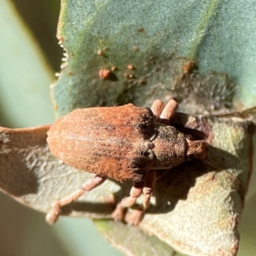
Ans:
POLYGON ((130 196, 119 202, 113 218, 123 219, 125 208, 134 205, 143 194, 143 207, 131 218, 131 224, 139 224, 149 206, 155 170, 170 169, 185 160, 207 156, 205 141, 193 140, 172 125, 166 125, 170 124, 176 109, 174 100, 166 107, 156 100, 151 109, 132 104, 83 108, 58 119, 48 132, 50 151, 67 165, 96 176, 72 195, 55 201, 47 221, 54 223, 61 207, 111 177, 119 182, 134 182, 130 196))

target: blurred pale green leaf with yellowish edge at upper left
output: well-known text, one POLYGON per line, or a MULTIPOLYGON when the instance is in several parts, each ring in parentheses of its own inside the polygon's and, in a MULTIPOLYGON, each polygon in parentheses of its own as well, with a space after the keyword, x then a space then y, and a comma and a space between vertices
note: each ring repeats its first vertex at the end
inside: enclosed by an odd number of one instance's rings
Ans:
POLYGON ((49 97, 52 72, 38 44, 10 6, 8 1, 1 1, 1 124, 26 127, 51 123, 54 119, 49 97))

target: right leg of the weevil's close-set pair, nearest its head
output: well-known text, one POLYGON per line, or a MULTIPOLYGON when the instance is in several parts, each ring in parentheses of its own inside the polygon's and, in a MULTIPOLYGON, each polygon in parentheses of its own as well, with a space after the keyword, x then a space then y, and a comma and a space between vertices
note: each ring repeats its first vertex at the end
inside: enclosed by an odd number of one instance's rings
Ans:
POLYGON ((131 225, 138 225, 140 224, 141 220, 143 219, 143 214, 149 207, 150 198, 153 194, 154 186, 156 181, 156 172, 154 170, 148 171, 148 176, 144 181, 143 187, 143 207, 138 210, 132 212, 131 217, 129 218, 128 222, 131 225))

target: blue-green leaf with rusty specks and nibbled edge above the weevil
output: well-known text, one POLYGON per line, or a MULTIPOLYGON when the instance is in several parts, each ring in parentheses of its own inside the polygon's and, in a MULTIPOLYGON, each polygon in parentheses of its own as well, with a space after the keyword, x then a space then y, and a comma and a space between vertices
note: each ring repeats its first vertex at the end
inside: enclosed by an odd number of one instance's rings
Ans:
MULTIPOLYGON (((253 1, 62 0, 61 6, 58 37, 67 62, 53 87, 59 116, 80 107, 149 105, 155 97, 182 102, 178 80, 188 61, 205 76, 227 73, 236 107, 254 105, 253 1), (111 71, 108 79, 99 77, 101 69, 111 71)), ((231 94, 226 90, 217 92, 231 94)))

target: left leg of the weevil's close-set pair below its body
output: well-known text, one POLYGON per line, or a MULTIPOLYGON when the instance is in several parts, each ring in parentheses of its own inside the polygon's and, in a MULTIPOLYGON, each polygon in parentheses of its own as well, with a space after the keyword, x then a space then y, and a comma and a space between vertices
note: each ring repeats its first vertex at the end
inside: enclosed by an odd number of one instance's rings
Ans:
POLYGON ((120 201, 115 210, 113 211, 112 217, 115 220, 124 219, 125 208, 132 207, 136 203, 137 198, 143 194, 143 185, 144 182, 135 182, 133 184, 133 187, 130 191, 130 196, 125 197, 122 201, 120 201))

